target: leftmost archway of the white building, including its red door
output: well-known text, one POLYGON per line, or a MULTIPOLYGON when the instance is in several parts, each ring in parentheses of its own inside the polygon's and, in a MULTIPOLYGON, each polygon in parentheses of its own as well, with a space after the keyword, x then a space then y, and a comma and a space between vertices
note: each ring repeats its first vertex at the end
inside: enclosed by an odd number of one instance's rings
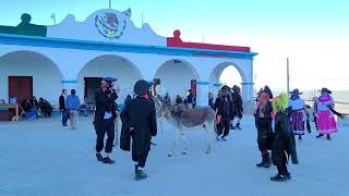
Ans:
POLYGON ((35 51, 14 51, 0 58, 0 98, 16 97, 17 102, 36 96, 58 103, 63 75, 57 64, 35 51))

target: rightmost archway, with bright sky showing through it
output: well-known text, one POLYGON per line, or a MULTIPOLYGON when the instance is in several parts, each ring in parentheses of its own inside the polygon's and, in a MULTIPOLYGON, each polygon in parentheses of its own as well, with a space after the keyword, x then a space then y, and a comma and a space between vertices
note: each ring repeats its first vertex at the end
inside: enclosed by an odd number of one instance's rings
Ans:
POLYGON ((209 75, 209 91, 217 96, 221 85, 228 85, 232 87, 238 85, 241 87, 241 83, 246 81, 243 71, 234 63, 224 62, 218 64, 209 75))

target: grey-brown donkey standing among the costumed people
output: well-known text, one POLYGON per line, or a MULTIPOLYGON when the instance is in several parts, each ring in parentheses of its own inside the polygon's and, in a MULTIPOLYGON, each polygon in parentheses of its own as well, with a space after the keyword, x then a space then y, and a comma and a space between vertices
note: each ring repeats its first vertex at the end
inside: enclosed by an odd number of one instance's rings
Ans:
POLYGON ((180 137, 184 145, 183 155, 188 154, 188 143, 184 137, 184 131, 202 127, 208 136, 206 154, 212 150, 213 133, 215 130, 216 112, 212 108, 194 108, 194 109, 181 109, 180 107, 171 106, 161 100, 161 98, 155 98, 158 105, 158 113, 163 115, 167 122, 174 127, 174 142, 172 149, 168 156, 171 157, 174 154, 177 140, 180 137))

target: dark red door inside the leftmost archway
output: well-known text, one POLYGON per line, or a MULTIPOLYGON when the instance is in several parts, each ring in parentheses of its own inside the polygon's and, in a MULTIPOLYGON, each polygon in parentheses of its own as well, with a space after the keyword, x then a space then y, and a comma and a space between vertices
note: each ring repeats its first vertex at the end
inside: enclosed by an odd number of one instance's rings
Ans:
POLYGON ((21 103, 24 99, 33 97, 32 76, 9 76, 9 98, 16 97, 21 103))

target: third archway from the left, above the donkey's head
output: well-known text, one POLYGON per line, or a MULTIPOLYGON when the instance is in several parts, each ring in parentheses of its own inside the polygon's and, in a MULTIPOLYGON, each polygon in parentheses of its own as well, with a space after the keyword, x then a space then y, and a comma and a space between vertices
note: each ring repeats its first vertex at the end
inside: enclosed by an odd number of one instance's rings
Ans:
POLYGON ((169 60, 160 65, 154 76, 169 93, 172 102, 177 95, 184 98, 185 90, 192 89, 200 95, 201 88, 196 85, 200 79, 196 70, 186 61, 169 60))

